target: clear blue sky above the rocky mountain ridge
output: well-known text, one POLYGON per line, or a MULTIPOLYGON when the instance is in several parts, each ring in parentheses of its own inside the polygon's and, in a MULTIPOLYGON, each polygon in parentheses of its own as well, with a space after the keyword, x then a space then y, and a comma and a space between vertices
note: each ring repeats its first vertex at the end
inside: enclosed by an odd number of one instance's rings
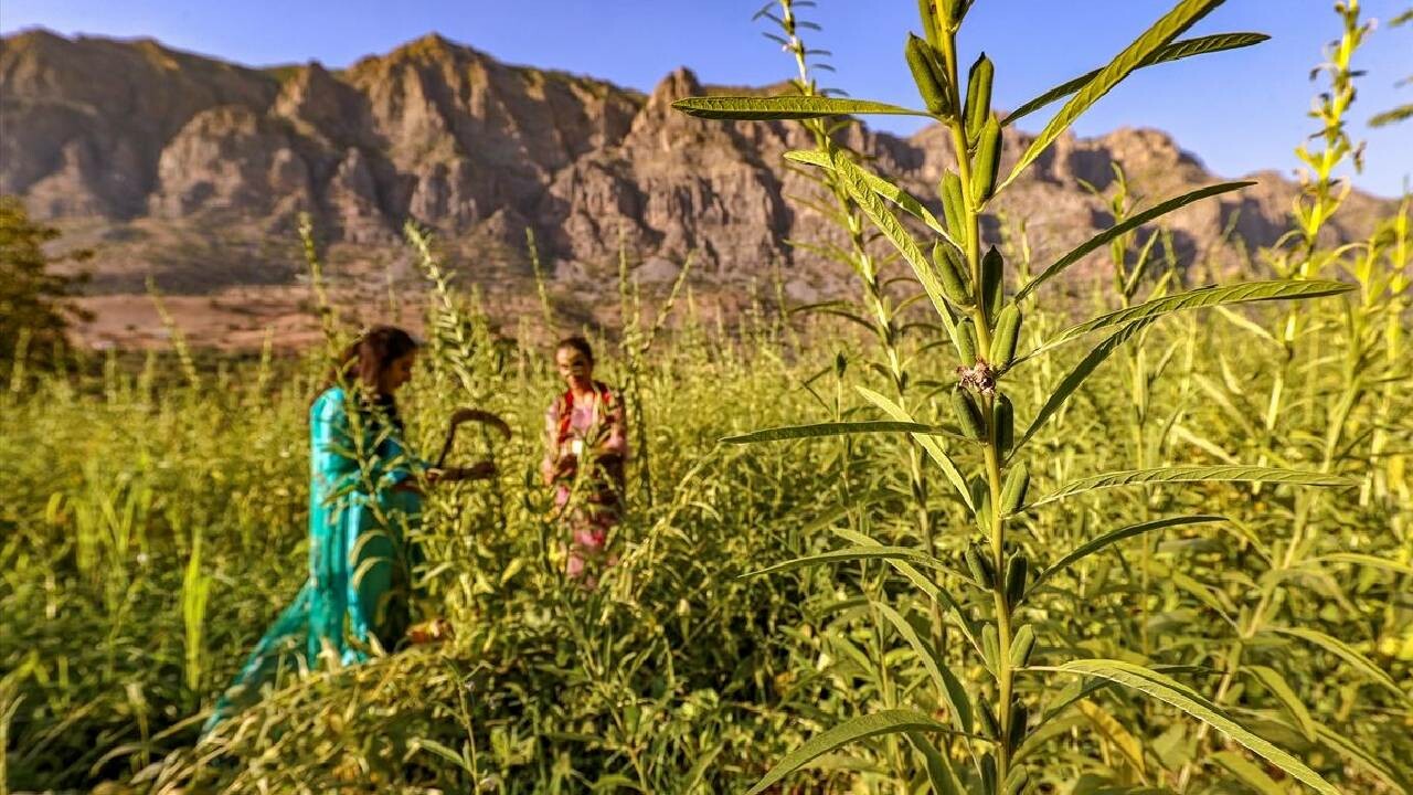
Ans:
MULTIPOLYGON (((322 61, 343 66, 430 31, 514 64, 560 68, 650 91, 670 69, 704 82, 759 85, 793 72, 750 20, 762 0, 3 0, 0 31, 44 25, 62 34, 150 35, 171 47, 249 65, 322 61)), ((969 54, 985 42, 996 62, 996 103, 1016 106, 1102 65, 1171 0, 978 0, 964 31, 969 54)), ((1260 31, 1251 50, 1146 69, 1099 102, 1077 130, 1150 126, 1221 175, 1291 171, 1291 149, 1314 129, 1306 116, 1308 69, 1338 33, 1332 0, 1228 0, 1194 33, 1260 31)), ((1413 0, 1364 0, 1365 16, 1392 18, 1413 0)), ((917 27, 916 0, 820 0, 824 25, 805 38, 834 51, 827 83, 853 96, 916 103, 901 58, 917 27)), ((968 59, 971 55, 968 55, 968 59)), ((1381 27, 1356 65, 1355 137, 1368 140, 1356 184, 1397 195, 1413 178, 1413 122, 1371 130, 1375 112, 1413 100, 1413 27, 1381 27)), ((1031 126, 1043 123, 1037 116, 1031 126)), ((911 132, 909 122, 875 119, 911 132)), ((1024 124, 1023 124, 1024 126, 1024 124)))

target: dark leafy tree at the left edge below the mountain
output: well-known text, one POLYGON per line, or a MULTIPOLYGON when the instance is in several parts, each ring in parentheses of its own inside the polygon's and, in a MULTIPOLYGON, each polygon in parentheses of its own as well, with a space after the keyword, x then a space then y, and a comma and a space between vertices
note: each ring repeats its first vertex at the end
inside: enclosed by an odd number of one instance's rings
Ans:
POLYGON ((44 245, 58 236, 58 229, 31 221, 18 198, 0 197, 0 362, 20 352, 31 365, 48 365, 66 348, 69 323, 90 317, 72 301, 88 276, 54 273, 51 266, 83 262, 93 252, 49 256, 44 245))

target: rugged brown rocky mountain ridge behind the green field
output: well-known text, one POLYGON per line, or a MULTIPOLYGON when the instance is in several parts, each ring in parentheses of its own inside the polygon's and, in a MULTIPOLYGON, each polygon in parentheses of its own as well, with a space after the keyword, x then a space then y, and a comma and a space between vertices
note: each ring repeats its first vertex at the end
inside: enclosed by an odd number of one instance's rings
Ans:
MULTIPOLYGON (((786 243, 829 233, 791 199, 812 190, 781 158, 808 146, 801 130, 670 108, 719 91, 678 69, 643 96, 438 35, 329 71, 28 31, 0 40, 0 192, 93 248, 93 287, 109 296, 140 293, 148 276, 175 294, 276 294, 302 273, 301 212, 329 242, 332 272, 369 290, 413 283, 400 243, 413 219, 435 231, 463 279, 504 296, 526 293, 533 231, 555 290, 585 317, 613 291, 620 246, 646 282, 671 279, 695 252, 697 290, 728 301, 777 273, 796 300, 838 293, 839 266, 786 243)), ((940 129, 846 134, 935 202, 950 157, 940 129)), ((1026 143, 1012 134, 1006 156, 1026 143)), ((1082 185, 1108 187, 1115 163, 1153 199, 1217 180, 1154 130, 1067 136, 1007 191, 991 233, 1024 221, 1041 257, 1084 239, 1111 218, 1082 185)), ((1228 226, 1252 246, 1286 228, 1296 185, 1256 178, 1173 216, 1184 257, 1217 250, 1228 226)), ((1337 233, 1364 232, 1378 205, 1356 194, 1337 233)))

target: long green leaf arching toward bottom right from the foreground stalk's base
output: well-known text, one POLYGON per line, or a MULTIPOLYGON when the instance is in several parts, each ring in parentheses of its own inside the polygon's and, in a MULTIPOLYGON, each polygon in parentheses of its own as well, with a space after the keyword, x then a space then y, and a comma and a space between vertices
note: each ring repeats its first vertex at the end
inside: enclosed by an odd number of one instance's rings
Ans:
POLYGON ((1170 676, 1164 676, 1156 671, 1118 659, 1078 659, 1067 662, 1058 668, 1044 668, 1041 671, 1098 676, 1146 693, 1163 703, 1183 710, 1191 717, 1241 743, 1258 757, 1293 775, 1316 792, 1321 792, 1324 795, 1340 795, 1338 789, 1335 789, 1318 772, 1306 767, 1306 764, 1294 755, 1277 748, 1270 744, 1270 741, 1252 734, 1246 729, 1242 729, 1217 704, 1170 676))

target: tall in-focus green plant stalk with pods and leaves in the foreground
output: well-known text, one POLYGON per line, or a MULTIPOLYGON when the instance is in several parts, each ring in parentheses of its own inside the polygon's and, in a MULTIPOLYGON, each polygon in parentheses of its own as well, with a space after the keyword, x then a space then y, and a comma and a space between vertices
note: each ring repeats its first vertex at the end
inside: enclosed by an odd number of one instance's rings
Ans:
MULTIPOLYGON (((926 552, 890 552, 858 533, 848 536, 855 542, 852 547, 838 550, 831 556, 798 559, 791 564, 820 564, 855 557, 889 560, 897 574, 901 574, 930 597, 934 610, 950 613, 957 628, 979 652, 982 668, 989 675, 986 678, 988 686, 965 687, 964 679, 950 672, 950 661, 938 654, 940 649, 935 645, 930 648, 920 642, 916 634, 906 627, 901 614, 887 605, 876 604, 876 614, 887 618, 896 631, 909 641, 913 652, 924 661, 935 685, 935 690, 931 693, 933 703, 947 706, 940 714, 947 716, 950 723, 940 723, 923 713, 885 702, 883 712, 861 716, 836 726, 781 760, 757 782, 752 792, 760 792, 776 784, 824 751, 855 738, 892 733, 909 736, 926 764, 930 784, 935 792, 959 792, 962 788, 985 795, 1023 792, 1030 787, 1031 771, 1019 761, 1019 754, 1026 740, 1037 729, 1031 716, 1043 714, 1031 709, 1033 697, 1029 693, 1022 693, 1023 675, 1026 679, 1091 678, 1133 687, 1183 709, 1204 727, 1217 727, 1238 738, 1267 762, 1311 787, 1323 792, 1334 792, 1317 772, 1300 760, 1251 734, 1221 710, 1210 709, 1202 696, 1159 669, 1102 658, 1074 659, 1048 666, 1031 662, 1036 632, 1040 627, 1026 621, 1026 604, 1033 598, 1040 581, 1068 571, 1080 560, 1123 538, 1166 526, 1217 522, 1222 521, 1221 516, 1170 516, 1121 528, 1081 545, 1074 553, 1043 569, 1031 567, 1024 545, 1019 543, 1020 538, 1012 538, 1010 529, 1020 515, 1030 513, 1040 505, 1121 484, 1277 480, 1306 485, 1347 485, 1347 478, 1332 477, 1328 472, 1297 472, 1269 467, 1231 467, 1225 470, 1164 467, 1082 478, 1061 487, 1048 497, 1027 502, 1030 475, 1022 448, 1105 358, 1129 338, 1136 337, 1142 342, 1140 332, 1164 314, 1249 300, 1330 296, 1347 291, 1348 286, 1308 279, 1210 287, 1177 294, 1156 291, 1143 303, 1125 301, 1119 310, 1104 313, 1087 323, 1063 330, 1036 349, 1017 355, 1023 323, 1022 304, 1044 282, 1058 276, 1088 252, 1105 243, 1122 240, 1125 233, 1142 224, 1152 222, 1193 201, 1236 190, 1245 184, 1212 185, 1167 199, 1130 218, 1121 218, 1111 229, 1057 259, 1024 284, 1019 284, 1009 298, 1006 296, 1005 256, 995 246, 982 250, 981 221, 991 204, 1111 88, 1143 66, 1246 47, 1259 42, 1263 37, 1259 34, 1219 34, 1177 41, 1178 35, 1221 4, 1221 0, 1181 0, 1115 57, 1108 66, 1068 81, 1023 105, 1006 119, 1000 119, 992 110, 991 103, 995 66, 985 54, 976 58, 969 68, 965 91, 962 91, 958 31, 972 4, 972 0, 924 0, 918 4, 923 35, 909 37, 906 61, 926 110, 805 92, 801 92, 803 96, 774 98, 691 98, 675 103, 675 108, 685 113, 708 119, 812 120, 814 129, 821 130, 817 133, 820 144, 817 150, 788 153, 787 157, 821 168, 828 175, 827 180, 831 180, 829 184, 842 188, 842 192, 836 192, 841 201, 842 195, 846 194, 851 205, 858 208, 858 214, 851 211, 849 215, 852 218, 866 216, 877 232, 897 249, 933 303, 938 320, 951 337, 962 362, 951 393, 958 429, 951 439, 959 440, 959 444, 930 437, 920 433, 923 430, 920 426, 906 422, 893 430, 910 433, 911 439, 927 450, 928 457, 951 482, 955 489, 954 497, 971 508, 972 533, 978 542, 962 556, 968 574, 958 573, 957 579, 924 576, 920 567, 941 569, 944 573, 955 571, 955 569, 952 569, 951 562, 938 559, 931 545, 927 546, 926 552), (1022 151, 1012 171, 1003 175, 1000 173, 1002 129, 1019 116, 1065 98, 1068 100, 1064 108, 1022 151), (955 168, 947 171, 940 185, 944 208, 941 219, 934 216, 917 198, 886 178, 866 171, 855 158, 827 144, 828 136, 821 124, 825 119, 845 113, 916 115, 942 124, 951 141, 955 168), (928 229, 930 236, 934 238, 931 257, 923 253, 924 249, 918 246, 913 233, 903 226, 896 209, 914 216, 928 229), (1053 385, 1053 392, 1037 412, 1030 427, 1020 433, 1015 426, 1013 398, 1007 393, 1007 376, 1012 371, 1050 349, 1098 330, 1106 330, 1109 338, 1094 348, 1064 379, 1053 385), (975 465, 979 471, 968 481, 962 474, 962 465, 975 465), (981 598, 959 600, 948 593, 952 583, 962 583, 965 588, 979 591, 981 598), (981 719, 975 729, 971 723, 974 714, 981 719), (924 737, 926 733, 942 734, 948 737, 948 743, 938 747, 924 737), (957 745, 962 745, 965 757, 972 761, 972 775, 958 777, 954 767, 955 760, 951 758, 951 751, 957 745), (962 784, 964 779, 966 784, 962 784)), ((794 35, 787 41, 787 47, 791 45, 803 64, 804 48, 794 35)), ((804 83, 804 79, 801 82, 804 83)), ((1130 280, 1136 284, 1137 276, 1125 274, 1126 289, 1130 280)), ((1136 378, 1143 379, 1146 389, 1146 365, 1142 359, 1139 359, 1136 378)), ((897 419, 903 420, 904 417, 897 419)), ((849 426, 849 423, 825 423, 805 430, 796 427, 788 431, 784 429, 759 431, 738 440, 766 441, 781 437, 798 439, 801 434, 834 436, 863 431, 859 427, 844 426, 849 426)), ((1140 458, 1143 447, 1140 434, 1140 458)), ((1047 652, 1047 656, 1050 654, 1047 652)), ((1074 700, 1077 699, 1051 703, 1051 709, 1041 723, 1053 720, 1074 700)))

